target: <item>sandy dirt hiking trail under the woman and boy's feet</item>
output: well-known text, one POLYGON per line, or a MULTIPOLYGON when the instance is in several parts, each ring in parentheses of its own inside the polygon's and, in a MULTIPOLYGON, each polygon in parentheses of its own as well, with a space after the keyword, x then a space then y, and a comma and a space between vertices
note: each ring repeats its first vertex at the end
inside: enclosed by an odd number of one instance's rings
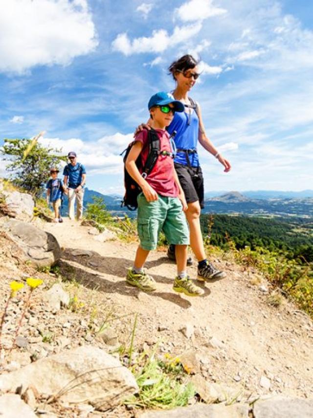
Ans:
MULTIPOLYGON (((176 266, 166 253, 151 252, 146 268, 157 290, 148 294, 125 281, 136 243, 99 242, 90 227, 67 218, 44 229, 63 247, 62 273, 84 286, 82 299, 89 295, 103 315, 108 309, 139 314, 135 349, 157 344, 158 352, 177 356, 194 350, 202 375, 212 382, 235 384, 253 395, 313 397, 313 323, 290 302, 270 306, 268 283, 260 286, 253 270, 214 259, 227 278, 202 285, 204 296, 190 298, 172 290, 176 266)), ((196 267, 188 273, 195 279, 196 267)), ((132 324, 126 317, 112 328, 123 339, 132 324)))

